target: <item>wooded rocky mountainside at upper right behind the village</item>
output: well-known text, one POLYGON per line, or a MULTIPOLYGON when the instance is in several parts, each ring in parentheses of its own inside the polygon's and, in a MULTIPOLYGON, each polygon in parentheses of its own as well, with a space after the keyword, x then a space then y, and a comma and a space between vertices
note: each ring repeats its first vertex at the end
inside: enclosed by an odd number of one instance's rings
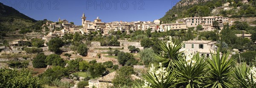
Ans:
POLYGON ((176 19, 194 16, 256 17, 256 1, 247 1, 243 3, 242 0, 180 0, 160 20, 163 23, 172 23, 176 19), (223 10, 221 6, 224 3, 230 3, 227 6, 229 10, 223 10), (217 7, 218 11, 211 13, 217 7))

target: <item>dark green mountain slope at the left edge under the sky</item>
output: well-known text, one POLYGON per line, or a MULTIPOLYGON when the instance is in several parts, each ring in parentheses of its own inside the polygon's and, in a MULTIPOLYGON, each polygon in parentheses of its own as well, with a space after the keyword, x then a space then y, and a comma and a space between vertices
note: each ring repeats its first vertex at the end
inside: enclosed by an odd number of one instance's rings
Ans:
POLYGON ((0 3, 0 36, 6 36, 9 31, 29 30, 35 26, 36 22, 38 21, 0 3))

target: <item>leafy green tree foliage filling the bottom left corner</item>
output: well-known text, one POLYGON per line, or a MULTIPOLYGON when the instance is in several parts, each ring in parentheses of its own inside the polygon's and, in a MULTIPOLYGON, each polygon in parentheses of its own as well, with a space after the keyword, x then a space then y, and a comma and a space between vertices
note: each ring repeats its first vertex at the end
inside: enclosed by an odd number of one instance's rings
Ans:
POLYGON ((0 69, 0 88, 43 88, 38 77, 28 69, 0 69))

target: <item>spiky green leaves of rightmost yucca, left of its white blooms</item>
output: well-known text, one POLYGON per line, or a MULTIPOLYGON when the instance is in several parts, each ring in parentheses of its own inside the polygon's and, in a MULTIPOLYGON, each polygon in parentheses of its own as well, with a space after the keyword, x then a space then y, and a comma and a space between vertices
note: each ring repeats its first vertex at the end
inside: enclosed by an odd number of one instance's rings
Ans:
POLYGON ((247 66, 246 63, 241 63, 241 65, 235 67, 233 77, 235 78, 235 82, 237 83, 237 85, 239 85, 240 88, 250 88, 247 80, 247 74, 249 73, 249 70, 250 68, 247 66))

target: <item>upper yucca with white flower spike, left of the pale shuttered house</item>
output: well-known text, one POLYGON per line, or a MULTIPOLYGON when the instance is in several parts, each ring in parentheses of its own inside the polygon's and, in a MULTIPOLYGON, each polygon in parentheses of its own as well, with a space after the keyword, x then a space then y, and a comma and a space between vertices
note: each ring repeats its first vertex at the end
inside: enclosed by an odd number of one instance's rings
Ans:
POLYGON ((182 47, 182 44, 174 42, 174 43, 160 43, 161 50, 160 55, 154 54, 153 57, 155 58, 155 64, 162 63, 164 67, 167 67, 169 64, 173 67, 173 61, 178 60, 179 58, 183 58, 182 53, 179 50, 182 47))

